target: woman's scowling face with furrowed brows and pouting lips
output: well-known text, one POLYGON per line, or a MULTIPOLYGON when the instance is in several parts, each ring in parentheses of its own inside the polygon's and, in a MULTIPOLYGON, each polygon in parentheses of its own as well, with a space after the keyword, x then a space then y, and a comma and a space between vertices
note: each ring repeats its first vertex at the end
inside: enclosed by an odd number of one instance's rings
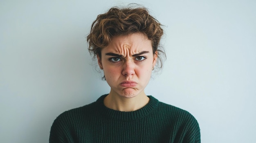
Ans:
POLYGON ((144 88, 156 59, 151 41, 141 33, 134 33, 113 37, 110 45, 101 50, 98 63, 111 88, 110 94, 132 98, 145 95, 144 88))

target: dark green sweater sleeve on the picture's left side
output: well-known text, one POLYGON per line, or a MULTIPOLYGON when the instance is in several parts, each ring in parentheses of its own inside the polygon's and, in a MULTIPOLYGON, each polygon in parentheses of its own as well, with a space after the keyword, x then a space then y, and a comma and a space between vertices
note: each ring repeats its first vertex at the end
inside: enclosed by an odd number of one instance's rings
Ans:
POLYGON ((63 114, 58 116, 51 127, 49 143, 74 143, 70 123, 63 114))

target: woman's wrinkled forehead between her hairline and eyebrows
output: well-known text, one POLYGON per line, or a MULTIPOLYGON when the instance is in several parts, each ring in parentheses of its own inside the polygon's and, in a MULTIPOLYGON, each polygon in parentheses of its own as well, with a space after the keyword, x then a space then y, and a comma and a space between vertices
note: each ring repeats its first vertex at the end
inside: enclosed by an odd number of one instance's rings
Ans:
POLYGON ((153 52, 151 41, 142 33, 114 36, 102 52, 135 54, 141 51, 153 52))

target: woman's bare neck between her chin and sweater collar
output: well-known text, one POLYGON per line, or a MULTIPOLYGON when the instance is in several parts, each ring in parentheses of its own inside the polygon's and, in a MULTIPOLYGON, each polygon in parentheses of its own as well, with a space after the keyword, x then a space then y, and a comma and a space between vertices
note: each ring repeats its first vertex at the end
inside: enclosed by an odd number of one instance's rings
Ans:
POLYGON ((113 94, 110 91, 110 94, 106 96, 104 99, 104 105, 106 107, 113 110, 124 111, 124 112, 138 110, 146 106, 148 102, 149 102, 149 98, 146 96, 144 91, 142 91, 139 95, 132 98, 122 97, 120 95, 113 94))

